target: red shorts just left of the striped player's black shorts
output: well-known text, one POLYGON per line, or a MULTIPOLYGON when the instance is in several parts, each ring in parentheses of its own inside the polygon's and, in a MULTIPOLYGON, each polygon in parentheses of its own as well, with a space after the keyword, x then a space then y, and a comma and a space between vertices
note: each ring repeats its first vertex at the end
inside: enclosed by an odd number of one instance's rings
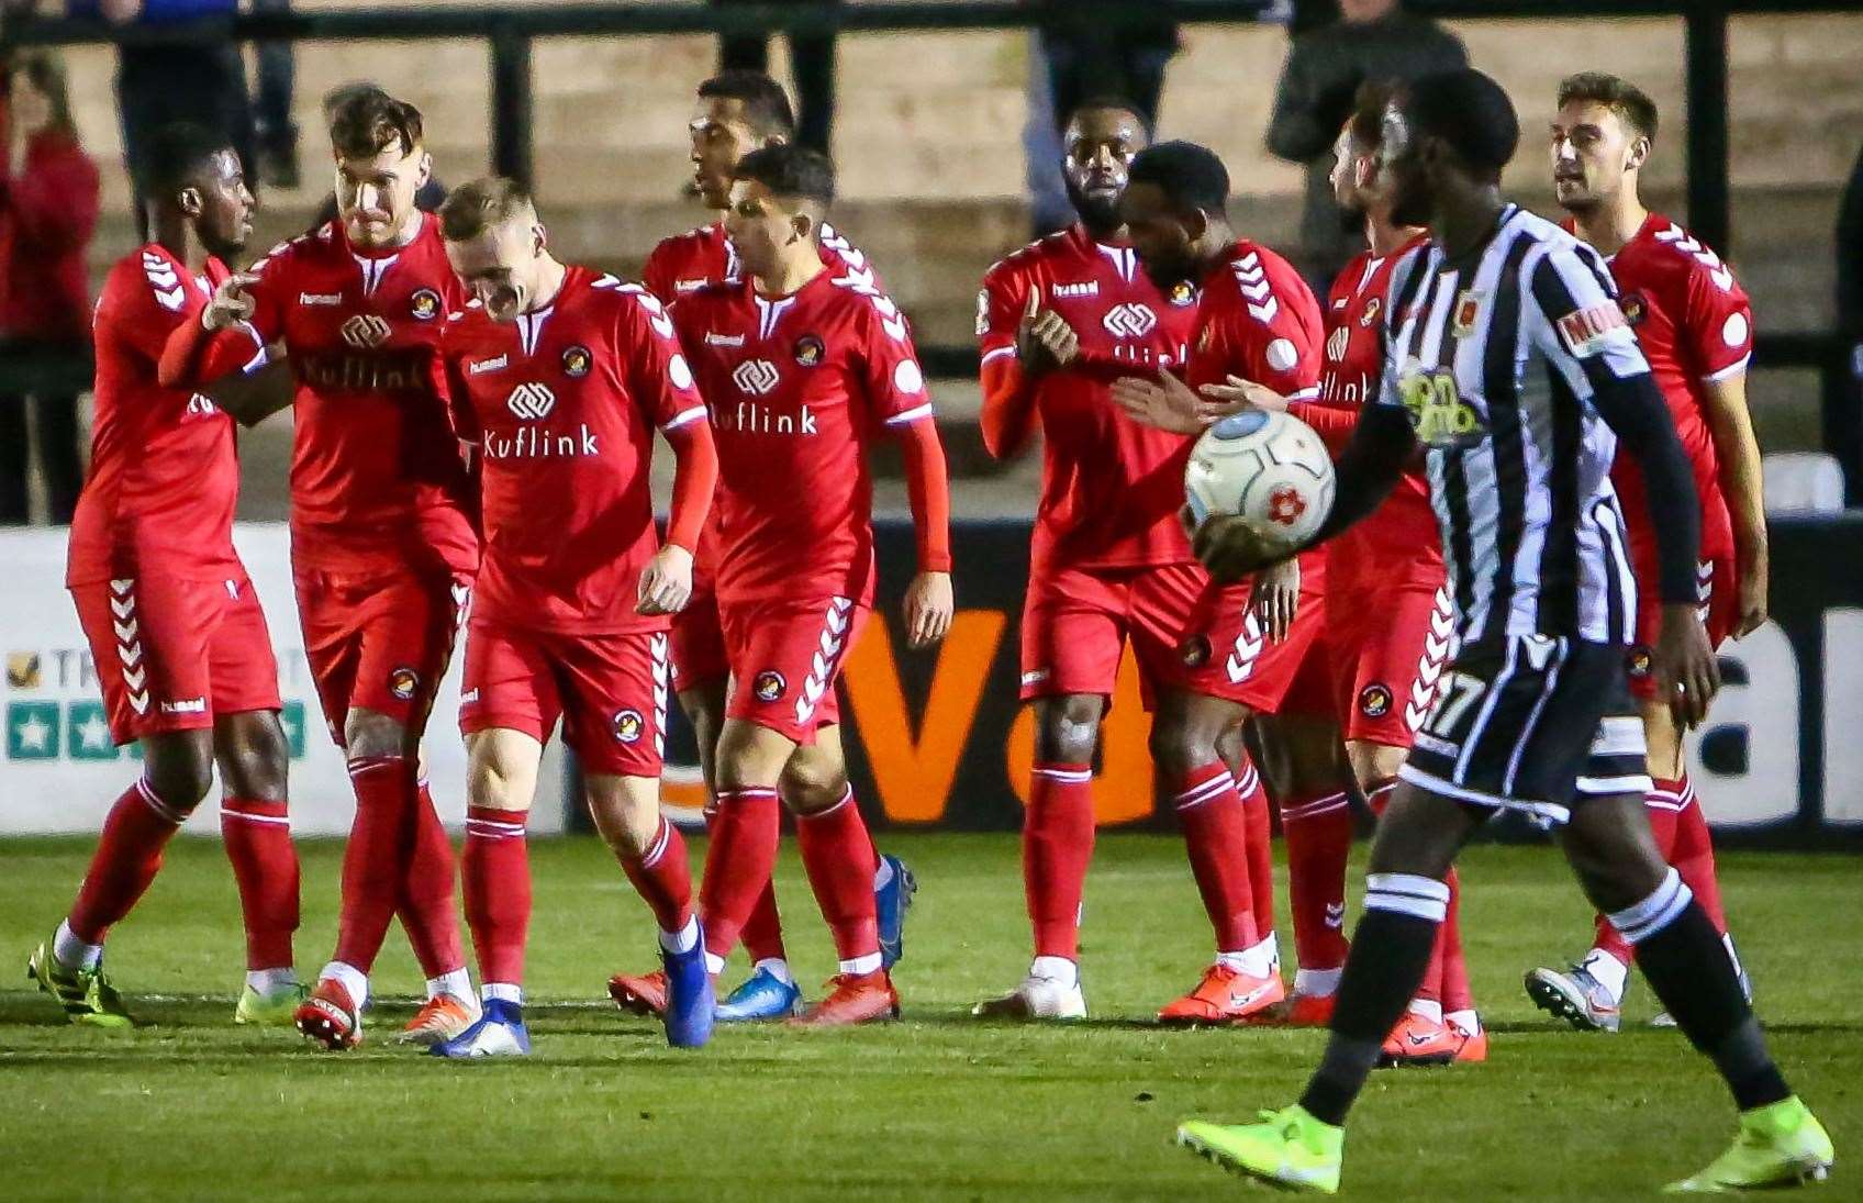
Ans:
POLYGON ((1446 585, 1395 581, 1330 590, 1326 642, 1339 734, 1410 747, 1436 702, 1453 639, 1455 605, 1446 585))

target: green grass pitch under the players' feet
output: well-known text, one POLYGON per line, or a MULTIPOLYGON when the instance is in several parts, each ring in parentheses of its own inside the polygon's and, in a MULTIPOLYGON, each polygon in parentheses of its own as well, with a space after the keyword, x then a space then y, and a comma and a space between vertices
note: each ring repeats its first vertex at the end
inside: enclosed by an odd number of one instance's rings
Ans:
MULTIPOLYGON (((905 1021, 853 1032, 723 1030, 669 1050, 598 1002, 609 972, 650 963, 645 909, 592 840, 531 849, 527 1061, 442 1063, 373 1039, 324 1054, 229 1019, 240 980, 231 875, 181 842, 110 968, 143 1026, 58 1021, 19 966, 67 905, 89 842, 0 844, 0 1196, 458 1197, 1054 1197, 1183 1199, 1252 1192, 1168 1143, 1185 1115, 1248 1117, 1300 1088, 1313 1032, 1161 1032, 1151 1011, 1194 983, 1207 926, 1176 840, 1101 840, 1088 883, 1094 1022, 978 1026, 978 996, 1027 966, 1010 836, 889 834, 918 872, 898 983, 905 1021)), ((300 968, 335 927, 333 844, 307 844, 300 968)), ((786 853, 788 855, 788 853, 786 853)), ((1699 1168, 1733 1132, 1710 1069, 1673 1032, 1578 1035, 1520 993, 1569 957, 1587 912, 1557 857, 1475 847, 1462 864, 1475 993, 1496 1030, 1483 1067, 1380 1073, 1353 1117, 1347 1194, 1379 1199, 1613 1199, 1699 1168)), ((1774 1047, 1837 1136, 1863 1132, 1863 935, 1857 862, 1729 855, 1723 883, 1774 1047)), ((779 870, 807 983, 833 972, 788 857, 779 870)), ((1285 937, 1284 937, 1285 939, 1285 937)), ((1291 957, 1289 957, 1291 959, 1291 957)), ((736 966, 728 974, 738 980, 736 966)), ((417 974, 399 935, 371 1015, 408 1013, 417 974), (399 996, 399 998, 397 998, 399 996)), ((1839 1162, 1824 1197, 1859 1197, 1839 1162)), ((1854 1177, 1856 1175, 1856 1177, 1854 1177)))

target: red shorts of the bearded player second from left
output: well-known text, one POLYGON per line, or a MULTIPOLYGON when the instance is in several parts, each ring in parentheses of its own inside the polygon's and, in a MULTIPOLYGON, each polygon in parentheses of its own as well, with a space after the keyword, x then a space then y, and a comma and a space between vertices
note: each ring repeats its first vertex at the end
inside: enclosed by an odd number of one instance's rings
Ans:
POLYGON ((419 734, 453 659, 471 577, 445 570, 292 574, 304 659, 330 737, 343 747, 350 708, 389 715, 419 734))

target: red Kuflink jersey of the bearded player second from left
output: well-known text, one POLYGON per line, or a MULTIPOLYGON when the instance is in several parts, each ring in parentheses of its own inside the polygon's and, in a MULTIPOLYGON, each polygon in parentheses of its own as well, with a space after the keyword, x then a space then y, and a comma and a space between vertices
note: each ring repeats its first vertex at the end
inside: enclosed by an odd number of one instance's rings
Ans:
POLYGON ((328 572, 408 561, 479 564, 471 480, 453 430, 440 331, 466 292, 440 222, 408 246, 350 244, 341 222, 250 268, 252 326, 283 341, 298 395, 291 454, 292 561, 328 572))

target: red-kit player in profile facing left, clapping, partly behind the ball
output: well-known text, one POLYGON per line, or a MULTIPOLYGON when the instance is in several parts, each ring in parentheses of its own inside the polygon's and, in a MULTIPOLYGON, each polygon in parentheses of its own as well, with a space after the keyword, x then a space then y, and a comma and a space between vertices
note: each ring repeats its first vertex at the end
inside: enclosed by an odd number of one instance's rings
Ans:
MULTIPOLYGON (((1285 259, 1235 235, 1226 216, 1228 190, 1222 162, 1200 145, 1161 142, 1133 158, 1120 214, 1138 261, 1166 296, 1196 287, 1198 305, 1181 365, 1189 385, 1168 371, 1116 380, 1112 400, 1131 417, 1153 421, 1168 408, 1166 391, 1189 395, 1231 376, 1291 400, 1319 395, 1319 304, 1285 259)), ((1159 488, 1168 484, 1172 492, 1174 512, 1183 503, 1189 449, 1183 441, 1177 460, 1159 473, 1159 488)), ((1271 816, 1239 736, 1252 713, 1328 710, 1325 696, 1300 696, 1323 689, 1293 689, 1321 626, 1321 562, 1302 557, 1299 568, 1287 564, 1230 587, 1213 587, 1207 575, 1187 570, 1192 572, 1185 577, 1189 605, 1174 641, 1177 669, 1159 698, 1151 756, 1172 782, 1177 814, 1187 823, 1209 821, 1203 816, 1213 806, 1224 816, 1215 847, 1224 849, 1224 877, 1233 873, 1241 890, 1231 911, 1239 922, 1226 931, 1218 926, 1217 963, 1190 994, 1159 1013, 1164 1021, 1265 1019, 1285 1000, 1272 920, 1271 816), (1241 765, 1241 780, 1224 760, 1241 765), (1237 866, 1237 847, 1246 849, 1244 870, 1237 866)), ((1213 877, 1200 866, 1200 883, 1213 877)), ((1205 905, 1209 898, 1205 886, 1205 905)))

